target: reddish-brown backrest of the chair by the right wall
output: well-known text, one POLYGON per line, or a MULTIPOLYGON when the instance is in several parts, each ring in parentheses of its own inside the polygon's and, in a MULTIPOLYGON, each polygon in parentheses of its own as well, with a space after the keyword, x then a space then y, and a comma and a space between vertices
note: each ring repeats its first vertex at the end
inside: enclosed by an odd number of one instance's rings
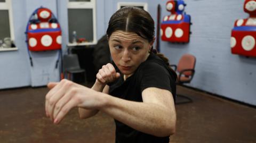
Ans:
MULTIPOLYGON (((191 54, 185 54, 185 55, 182 55, 180 58, 180 61, 177 66, 177 71, 181 72, 182 70, 186 70, 186 69, 195 69, 195 65, 196 65, 196 57, 191 54)), ((192 72, 187 71, 187 72, 183 72, 183 74, 189 77, 192 74, 192 72)))

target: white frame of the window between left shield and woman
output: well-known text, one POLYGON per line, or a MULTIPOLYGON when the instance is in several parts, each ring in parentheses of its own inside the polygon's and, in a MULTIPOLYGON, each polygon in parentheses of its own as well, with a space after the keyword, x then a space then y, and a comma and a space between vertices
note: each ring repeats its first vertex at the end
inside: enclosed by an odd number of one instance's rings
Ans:
MULTIPOLYGON (((93 41, 87 43, 69 43, 68 46, 84 46, 84 45, 95 45, 97 44, 97 23, 96 23, 96 0, 91 0, 91 2, 69 2, 67 9, 92 9, 92 26, 93 26, 93 41)), ((68 26, 69 27, 69 26, 68 26)), ((69 36, 69 33, 68 33, 69 36)), ((69 38, 69 37, 68 37, 69 38)))

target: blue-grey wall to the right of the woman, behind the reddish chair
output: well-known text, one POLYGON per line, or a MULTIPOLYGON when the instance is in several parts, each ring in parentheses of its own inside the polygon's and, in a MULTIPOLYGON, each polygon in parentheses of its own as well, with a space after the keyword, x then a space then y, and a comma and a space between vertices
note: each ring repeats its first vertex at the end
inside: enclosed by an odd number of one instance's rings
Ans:
MULTIPOLYGON (((162 18, 169 15, 165 10, 166 2, 161 1, 162 18)), ((188 86, 256 105, 256 58, 230 53, 230 35, 235 20, 249 16, 243 11, 244 1, 185 2, 185 11, 191 15, 193 23, 190 43, 179 45, 161 41, 161 52, 172 64, 177 64, 185 53, 196 56, 196 73, 188 86)), ((149 1, 149 5, 156 4, 154 0, 149 1)), ((156 13, 154 9, 149 11, 156 13)))

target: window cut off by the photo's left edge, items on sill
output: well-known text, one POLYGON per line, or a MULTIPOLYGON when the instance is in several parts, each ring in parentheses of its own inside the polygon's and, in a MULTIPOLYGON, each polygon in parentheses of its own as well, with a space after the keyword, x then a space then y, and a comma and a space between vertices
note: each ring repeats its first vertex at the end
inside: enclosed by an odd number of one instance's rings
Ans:
POLYGON ((0 0, 0 51, 17 50, 14 41, 11 0, 0 0))

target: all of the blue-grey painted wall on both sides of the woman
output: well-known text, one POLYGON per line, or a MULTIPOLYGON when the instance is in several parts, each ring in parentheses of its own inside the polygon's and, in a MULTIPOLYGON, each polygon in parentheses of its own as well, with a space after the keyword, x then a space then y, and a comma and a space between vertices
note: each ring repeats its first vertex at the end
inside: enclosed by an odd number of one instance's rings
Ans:
MULTIPOLYGON (((147 2, 148 11, 156 21, 157 4, 162 6, 162 18, 170 13, 166 1, 155 0, 97 0, 97 39, 107 29, 110 16, 117 9, 117 2, 147 2)), ((236 19, 247 18, 241 0, 185 0, 185 11, 191 15, 190 43, 185 45, 161 41, 161 52, 172 64, 190 53, 197 57, 196 73, 187 86, 212 92, 224 97, 256 105, 256 59, 230 53, 230 32, 236 19)), ((50 8, 58 15, 62 28, 62 49, 67 52, 68 39, 67 0, 12 0, 14 36, 18 51, 0 52, 0 89, 41 86, 59 80, 59 69, 54 69, 57 52, 33 53, 34 68, 30 67, 25 35, 29 15, 39 6, 50 8)))

